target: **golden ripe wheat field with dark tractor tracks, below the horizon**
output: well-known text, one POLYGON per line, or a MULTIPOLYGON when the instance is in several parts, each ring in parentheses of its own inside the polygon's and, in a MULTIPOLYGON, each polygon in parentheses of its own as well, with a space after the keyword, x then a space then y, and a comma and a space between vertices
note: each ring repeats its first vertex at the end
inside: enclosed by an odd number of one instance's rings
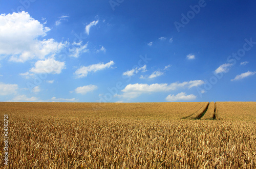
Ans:
POLYGON ((9 168, 256 167, 255 102, 0 102, 0 115, 9 168))

